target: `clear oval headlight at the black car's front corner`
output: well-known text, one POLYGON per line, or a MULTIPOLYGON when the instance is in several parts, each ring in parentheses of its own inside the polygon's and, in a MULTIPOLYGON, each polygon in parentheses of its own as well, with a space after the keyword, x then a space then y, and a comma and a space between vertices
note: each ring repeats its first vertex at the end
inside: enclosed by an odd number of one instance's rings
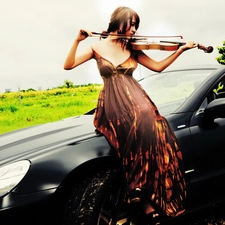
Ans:
POLYGON ((28 160, 0 167, 0 197, 9 193, 26 175, 30 168, 28 160))

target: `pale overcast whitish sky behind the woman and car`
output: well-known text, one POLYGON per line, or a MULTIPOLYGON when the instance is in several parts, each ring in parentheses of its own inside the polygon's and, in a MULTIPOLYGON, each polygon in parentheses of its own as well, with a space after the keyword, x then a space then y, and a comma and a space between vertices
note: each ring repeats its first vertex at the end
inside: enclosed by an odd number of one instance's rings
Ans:
MULTIPOLYGON (((0 93, 28 88, 48 89, 64 84, 102 83, 96 62, 90 60, 66 71, 63 64, 80 29, 101 32, 118 6, 133 8, 140 16, 138 35, 181 35, 213 46, 210 54, 192 49, 166 70, 183 66, 218 64, 217 47, 225 40, 224 0, 2 0, 0 2, 0 93)), ((83 41, 82 51, 99 37, 83 41)), ((148 50, 159 61, 171 52, 148 50)), ((135 78, 152 73, 138 67, 135 78)))

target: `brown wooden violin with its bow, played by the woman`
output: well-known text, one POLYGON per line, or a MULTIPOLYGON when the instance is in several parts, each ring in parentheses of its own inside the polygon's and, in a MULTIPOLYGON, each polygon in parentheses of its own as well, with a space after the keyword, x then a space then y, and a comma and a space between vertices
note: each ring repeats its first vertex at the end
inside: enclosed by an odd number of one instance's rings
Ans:
MULTIPOLYGON (((109 33, 96 33, 92 32, 93 35, 100 35, 101 37, 107 37, 108 35, 117 36, 119 38, 127 38, 128 36, 124 34, 109 34, 109 33)), ((148 42, 149 38, 181 38, 183 36, 146 36, 146 35, 133 35, 131 38, 130 43, 132 49, 134 50, 161 50, 161 51, 176 51, 180 48, 180 46, 185 45, 186 42, 181 41, 167 41, 167 40, 160 40, 159 42, 148 42)), ((212 46, 204 46, 202 44, 198 44, 197 48, 203 50, 205 53, 213 52, 212 46)))

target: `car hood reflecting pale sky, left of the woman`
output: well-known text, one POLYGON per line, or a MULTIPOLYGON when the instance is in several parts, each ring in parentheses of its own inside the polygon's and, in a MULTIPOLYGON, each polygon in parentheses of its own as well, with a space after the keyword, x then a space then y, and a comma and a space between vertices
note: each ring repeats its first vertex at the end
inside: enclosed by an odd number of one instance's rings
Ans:
POLYGON ((56 146, 72 144, 99 134, 93 115, 28 127, 0 135, 0 165, 56 146))

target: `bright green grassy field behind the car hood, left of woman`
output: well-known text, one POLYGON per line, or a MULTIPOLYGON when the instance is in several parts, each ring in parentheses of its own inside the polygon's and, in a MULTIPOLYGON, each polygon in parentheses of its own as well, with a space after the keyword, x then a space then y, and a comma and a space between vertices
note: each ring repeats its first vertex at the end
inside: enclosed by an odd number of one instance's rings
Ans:
POLYGON ((93 109, 101 85, 0 94, 0 134, 81 115, 93 109))

